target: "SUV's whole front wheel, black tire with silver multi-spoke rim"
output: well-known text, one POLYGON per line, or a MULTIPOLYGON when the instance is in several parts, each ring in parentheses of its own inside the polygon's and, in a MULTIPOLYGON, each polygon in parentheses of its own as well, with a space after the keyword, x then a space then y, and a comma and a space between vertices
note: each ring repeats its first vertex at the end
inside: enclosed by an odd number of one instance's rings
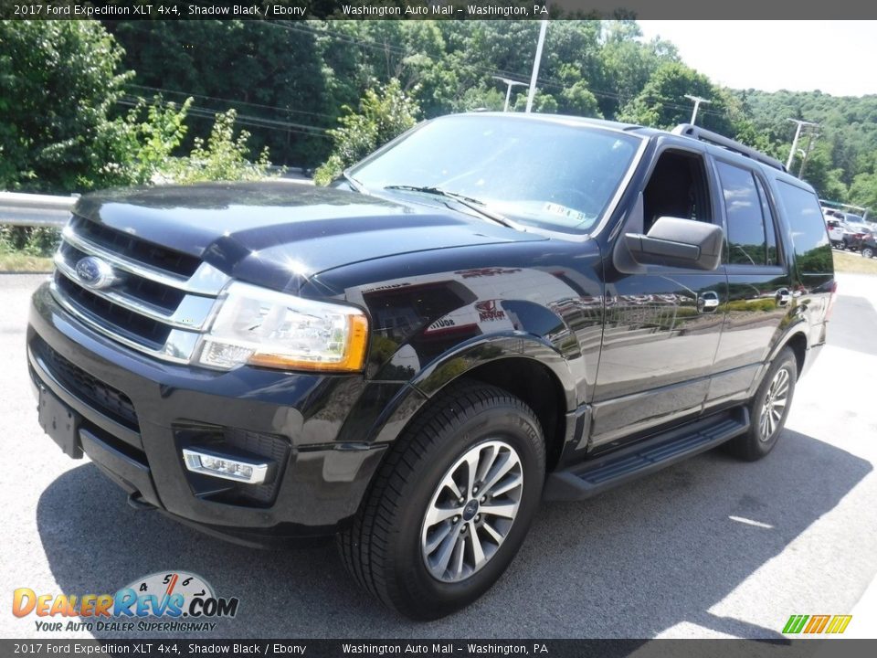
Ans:
POLYGON ((451 385, 390 448, 344 565, 387 606, 438 619, 478 599, 512 562, 544 483, 542 428, 498 387, 451 385))

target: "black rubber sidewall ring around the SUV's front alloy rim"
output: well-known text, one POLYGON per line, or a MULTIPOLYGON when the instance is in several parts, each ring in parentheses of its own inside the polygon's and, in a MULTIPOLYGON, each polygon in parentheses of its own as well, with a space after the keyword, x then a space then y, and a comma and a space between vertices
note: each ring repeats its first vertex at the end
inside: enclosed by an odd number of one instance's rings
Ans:
POLYGON ((433 444, 421 456, 418 477, 400 492, 407 504, 400 507, 396 541, 392 542, 396 551, 393 563, 403 571, 397 574, 397 586, 405 591, 405 599, 424 601, 423 610, 412 610, 418 617, 442 616, 478 599, 491 588, 523 543, 544 483, 543 439, 538 422, 511 402, 472 410, 460 425, 448 427, 444 433, 444 440, 433 444), (449 468, 466 451, 487 440, 503 440, 517 452, 523 472, 521 505, 508 536, 484 567, 461 582, 442 582, 432 577, 423 561, 420 535, 424 515, 449 468))

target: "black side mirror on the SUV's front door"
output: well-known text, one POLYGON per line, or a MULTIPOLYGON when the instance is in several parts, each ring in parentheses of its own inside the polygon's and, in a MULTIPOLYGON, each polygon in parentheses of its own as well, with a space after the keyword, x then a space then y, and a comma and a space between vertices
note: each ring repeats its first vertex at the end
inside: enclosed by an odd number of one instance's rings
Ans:
POLYGON ((649 233, 626 233, 624 242, 641 265, 715 270, 722 261, 721 227, 694 219, 662 217, 649 233))

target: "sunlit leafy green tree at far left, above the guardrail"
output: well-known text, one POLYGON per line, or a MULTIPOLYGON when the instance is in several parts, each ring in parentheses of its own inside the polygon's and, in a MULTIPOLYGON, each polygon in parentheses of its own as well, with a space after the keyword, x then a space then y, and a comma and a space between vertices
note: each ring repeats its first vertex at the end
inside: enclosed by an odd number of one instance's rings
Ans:
POLYGON ((111 111, 132 74, 95 21, 0 21, 0 188, 101 186, 111 111))

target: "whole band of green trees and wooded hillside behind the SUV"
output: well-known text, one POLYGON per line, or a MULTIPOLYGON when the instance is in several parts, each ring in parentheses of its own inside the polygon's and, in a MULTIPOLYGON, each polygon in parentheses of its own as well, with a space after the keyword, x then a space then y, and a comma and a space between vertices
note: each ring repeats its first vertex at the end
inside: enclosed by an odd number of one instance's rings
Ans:
MULTIPOLYGON (((238 152, 245 161, 268 146, 280 164, 326 164, 325 177, 416 118, 501 110, 506 85, 497 78, 529 80, 538 29, 469 20, 5 23, 0 186, 81 191, 173 178, 163 163, 189 154, 196 139, 203 152, 229 109, 252 133, 252 151, 238 152)), ((792 171, 803 164, 821 196, 877 206, 877 97, 727 90, 684 65, 672 44, 643 40, 632 21, 548 28, 536 111, 671 127, 690 119, 686 94, 711 101, 699 124, 783 162, 795 129, 787 118, 819 122, 792 171)), ((526 86, 514 87, 512 109, 525 100, 526 86)))

